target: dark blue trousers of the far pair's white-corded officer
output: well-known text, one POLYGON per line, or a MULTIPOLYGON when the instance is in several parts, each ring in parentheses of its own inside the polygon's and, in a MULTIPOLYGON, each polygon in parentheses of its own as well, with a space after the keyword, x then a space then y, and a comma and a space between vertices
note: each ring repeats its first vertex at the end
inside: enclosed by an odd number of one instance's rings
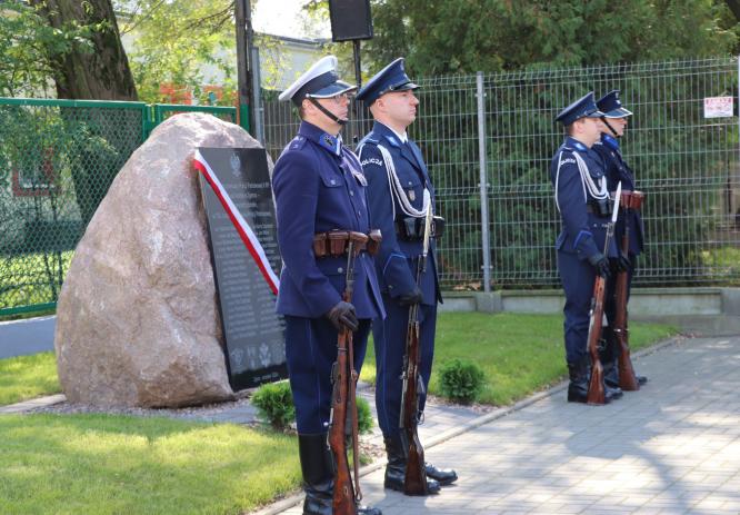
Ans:
POLYGON ((578 363, 587 353, 589 313, 596 271, 588 260, 579 259, 576 254, 560 250, 558 251, 558 271, 566 291, 566 307, 563 308, 566 359, 568 363, 578 363))

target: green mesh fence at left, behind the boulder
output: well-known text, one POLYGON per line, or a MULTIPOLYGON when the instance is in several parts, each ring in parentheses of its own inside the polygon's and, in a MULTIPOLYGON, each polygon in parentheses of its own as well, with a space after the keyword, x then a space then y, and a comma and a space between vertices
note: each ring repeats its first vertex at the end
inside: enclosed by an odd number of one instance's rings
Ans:
MULTIPOLYGON (((236 115, 162 106, 157 121, 176 109, 236 115)), ((154 125, 141 102, 0 99, 0 315, 54 305, 84 228, 154 125)))

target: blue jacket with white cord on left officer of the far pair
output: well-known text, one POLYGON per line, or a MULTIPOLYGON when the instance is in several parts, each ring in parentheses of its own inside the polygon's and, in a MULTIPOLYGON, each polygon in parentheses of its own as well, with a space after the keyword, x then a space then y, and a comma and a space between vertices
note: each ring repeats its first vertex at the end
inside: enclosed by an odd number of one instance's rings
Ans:
MULTIPOLYGON (((550 178, 556 188, 556 202, 562 218, 562 231, 556 240, 556 248, 567 254, 576 254, 583 260, 604 251, 608 217, 589 212, 587 205, 593 200, 581 178, 576 161, 578 153, 594 182, 603 177, 603 164, 598 153, 574 138, 568 137, 556 152, 550 164, 550 178)), ((612 238, 607 256, 617 256, 612 238)))

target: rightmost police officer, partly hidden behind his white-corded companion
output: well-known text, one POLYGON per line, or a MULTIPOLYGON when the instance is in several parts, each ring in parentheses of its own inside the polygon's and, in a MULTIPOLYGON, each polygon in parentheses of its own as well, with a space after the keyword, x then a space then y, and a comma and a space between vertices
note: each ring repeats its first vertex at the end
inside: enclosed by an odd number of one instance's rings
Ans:
MULTIPOLYGON (((612 90, 601 97, 597 101, 597 108, 603 112, 601 121, 603 121, 606 130, 601 133, 601 140, 593 145, 593 150, 599 156, 601 156, 601 159, 603 160, 604 174, 607 176, 607 188, 609 191, 616 191, 617 185, 621 181, 622 195, 628 197, 632 191, 634 191, 634 174, 630 167, 627 166, 627 162, 624 162, 624 159, 622 158, 622 152, 619 147, 619 138, 624 136, 627 119, 632 115, 632 112, 622 106, 622 102, 619 99, 618 89, 612 90)), ((617 226, 614 227, 614 241, 617 242, 618 247, 621 246, 626 228, 629 228, 628 254, 624 256, 620 248, 619 257, 617 259, 612 259, 612 271, 616 273, 619 270, 626 270, 628 273, 627 298, 629 299, 629 291, 632 285, 632 276, 634 275, 634 269, 637 266, 637 258, 643 248, 644 230, 642 227, 642 218, 640 216, 639 209, 620 209, 619 218, 617 219, 617 226)), ((616 286, 617 274, 612 274, 607 285, 607 291, 609 295, 607 296, 604 303, 604 311, 607 314, 609 325, 603 329, 606 346, 601 355, 604 382, 611 387, 619 386, 619 369, 617 367, 617 359, 619 357, 618 341, 614 333, 611 330, 617 308, 614 297, 616 286)), ((643 385, 648 382, 648 378, 644 376, 637 376, 637 380, 640 385, 643 385)))

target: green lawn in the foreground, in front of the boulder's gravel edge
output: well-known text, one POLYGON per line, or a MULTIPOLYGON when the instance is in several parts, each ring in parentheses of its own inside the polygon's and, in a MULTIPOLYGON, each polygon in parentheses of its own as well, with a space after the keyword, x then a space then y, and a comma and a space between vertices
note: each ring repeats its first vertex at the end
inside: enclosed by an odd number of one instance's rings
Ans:
POLYGON ((237 515, 300 484, 297 439, 233 424, 0 416, 0 512, 237 515))

